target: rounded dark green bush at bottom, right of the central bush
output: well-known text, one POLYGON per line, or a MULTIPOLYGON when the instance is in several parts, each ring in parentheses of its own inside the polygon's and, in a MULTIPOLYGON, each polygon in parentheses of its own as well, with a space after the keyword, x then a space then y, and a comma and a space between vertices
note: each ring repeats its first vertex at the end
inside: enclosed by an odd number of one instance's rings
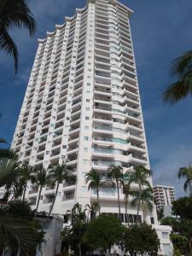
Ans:
POLYGON ((148 224, 131 225, 125 230, 124 235, 125 252, 131 255, 146 254, 157 255, 160 247, 160 240, 156 231, 148 224))

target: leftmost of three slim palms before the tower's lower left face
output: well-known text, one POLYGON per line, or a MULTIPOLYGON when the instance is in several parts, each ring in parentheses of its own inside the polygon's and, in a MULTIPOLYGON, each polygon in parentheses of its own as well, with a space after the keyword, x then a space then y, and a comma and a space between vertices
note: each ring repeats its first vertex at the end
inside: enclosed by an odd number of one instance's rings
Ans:
POLYGON ((32 183, 35 182, 35 177, 34 177, 34 168, 32 166, 26 166, 23 165, 20 168, 20 185, 23 188, 23 195, 22 195, 22 201, 25 200, 26 196, 26 187, 27 183, 31 181, 32 183))

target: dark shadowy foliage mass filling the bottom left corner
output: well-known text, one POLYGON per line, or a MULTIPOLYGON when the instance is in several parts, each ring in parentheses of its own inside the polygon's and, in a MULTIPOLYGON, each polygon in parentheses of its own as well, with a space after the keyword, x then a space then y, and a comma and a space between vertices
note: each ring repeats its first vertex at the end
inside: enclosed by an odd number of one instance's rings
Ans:
POLYGON ((0 213, 0 250, 9 247, 15 253, 20 247, 22 253, 36 255, 44 234, 27 203, 10 201, 0 213))

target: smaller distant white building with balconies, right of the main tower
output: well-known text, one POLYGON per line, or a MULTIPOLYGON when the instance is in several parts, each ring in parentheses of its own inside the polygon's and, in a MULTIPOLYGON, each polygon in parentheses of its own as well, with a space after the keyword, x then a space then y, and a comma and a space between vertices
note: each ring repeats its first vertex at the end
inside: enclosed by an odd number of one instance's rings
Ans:
POLYGON ((175 188, 164 185, 155 185, 154 200, 157 207, 172 206, 172 201, 176 200, 175 188))

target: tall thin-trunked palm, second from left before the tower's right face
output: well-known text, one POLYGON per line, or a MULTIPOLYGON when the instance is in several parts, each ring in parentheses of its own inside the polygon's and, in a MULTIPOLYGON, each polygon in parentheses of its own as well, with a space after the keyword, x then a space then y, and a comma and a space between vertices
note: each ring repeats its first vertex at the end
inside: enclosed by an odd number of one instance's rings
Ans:
POLYGON ((120 218, 120 199, 119 199, 119 186, 122 184, 122 180, 124 178, 123 175, 123 168, 122 166, 111 166, 109 168, 109 173, 108 177, 114 181, 116 187, 117 187, 117 192, 118 192, 118 207, 119 207, 119 218, 120 218))

